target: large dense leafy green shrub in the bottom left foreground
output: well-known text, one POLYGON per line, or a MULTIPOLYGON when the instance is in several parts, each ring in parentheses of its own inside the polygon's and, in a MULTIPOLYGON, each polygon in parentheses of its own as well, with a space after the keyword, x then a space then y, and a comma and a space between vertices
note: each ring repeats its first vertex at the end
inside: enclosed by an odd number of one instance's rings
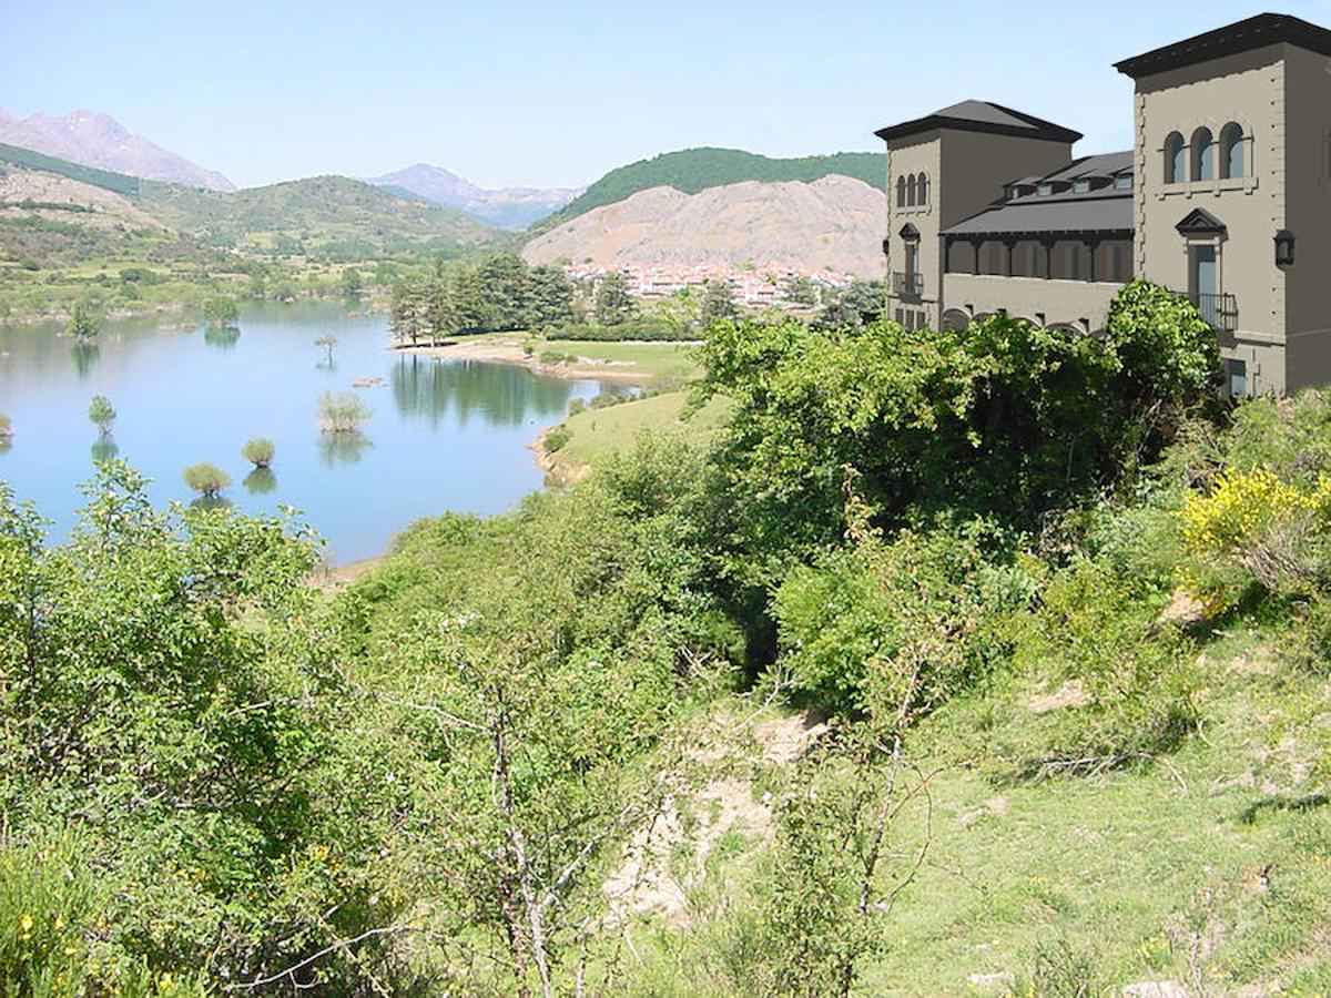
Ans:
MULTIPOLYGON (((261 978, 395 917, 367 866, 387 784, 343 724, 313 547, 281 519, 164 515, 145 484, 102 466, 52 547, 0 486, 0 939, 31 914, 19 942, 92 953, 101 991, 132 967, 261 978)), ((301 979, 354 990, 381 942, 301 979)))

